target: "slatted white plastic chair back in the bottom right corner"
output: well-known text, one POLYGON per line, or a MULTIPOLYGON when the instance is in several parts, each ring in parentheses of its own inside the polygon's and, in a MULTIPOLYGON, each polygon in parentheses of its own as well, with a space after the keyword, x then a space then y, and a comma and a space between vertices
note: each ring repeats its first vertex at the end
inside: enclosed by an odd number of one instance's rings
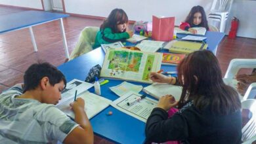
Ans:
POLYGON ((247 141, 256 135, 256 99, 242 101, 242 109, 248 109, 252 116, 242 128, 242 141, 247 141))

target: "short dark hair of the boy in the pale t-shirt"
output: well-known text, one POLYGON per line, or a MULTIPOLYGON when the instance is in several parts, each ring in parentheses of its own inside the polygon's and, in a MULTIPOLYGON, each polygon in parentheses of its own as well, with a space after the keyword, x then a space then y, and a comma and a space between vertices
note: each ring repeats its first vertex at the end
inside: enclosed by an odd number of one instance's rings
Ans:
POLYGON ((56 67, 47 62, 34 63, 25 71, 23 92, 35 90, 43 77, 48 77, 52 86, 63 81, 66 87, 66 78, 56 67))

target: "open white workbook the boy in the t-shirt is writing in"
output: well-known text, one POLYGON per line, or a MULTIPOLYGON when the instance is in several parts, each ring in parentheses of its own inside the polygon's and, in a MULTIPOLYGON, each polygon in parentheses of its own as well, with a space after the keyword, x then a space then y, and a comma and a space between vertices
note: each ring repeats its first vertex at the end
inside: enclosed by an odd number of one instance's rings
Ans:
POLYGON ((77 90, 77 98, 83 98, 85 100, 85 112, 87 117, 92 118, 97 113, 108 107, 112 102, 102 96, 88 92, 87 90, 92 86, 93 84, 91 83, 79 81, 77 79, 68 82, 66 88, 62 92, 62 99, 56 107, 66 113, 66 115, 75 118, 74 112, 70 109, 70 103, 74 101, 75 90, 77 90))

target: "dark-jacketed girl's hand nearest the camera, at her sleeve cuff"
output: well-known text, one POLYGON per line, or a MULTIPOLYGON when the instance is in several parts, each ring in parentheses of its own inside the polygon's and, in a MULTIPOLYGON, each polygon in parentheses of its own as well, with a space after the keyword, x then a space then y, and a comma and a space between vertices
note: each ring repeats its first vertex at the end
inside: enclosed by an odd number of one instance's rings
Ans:
POLYGON ((171 95, 162 96, 156 107, 160 107, 165 111, 168 111, 171 107, 175 107, 179 101, 175 101, 175 98, 171 95))

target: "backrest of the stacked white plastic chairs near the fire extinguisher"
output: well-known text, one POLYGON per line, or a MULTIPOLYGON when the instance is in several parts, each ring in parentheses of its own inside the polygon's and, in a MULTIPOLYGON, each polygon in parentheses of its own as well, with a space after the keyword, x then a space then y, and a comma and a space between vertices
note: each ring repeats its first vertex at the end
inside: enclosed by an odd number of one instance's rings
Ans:
POLYGON ((233 0, 213 0, 211 11, 230 12, 233 0))

